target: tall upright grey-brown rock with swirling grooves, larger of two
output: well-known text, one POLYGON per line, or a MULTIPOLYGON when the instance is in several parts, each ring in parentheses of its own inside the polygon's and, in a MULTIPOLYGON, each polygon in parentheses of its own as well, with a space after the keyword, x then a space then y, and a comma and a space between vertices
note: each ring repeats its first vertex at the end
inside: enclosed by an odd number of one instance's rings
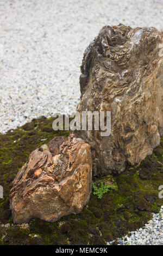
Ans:
POLYGON ((111 111, 111 135, 74 131, 92 149, 94 175, 137 164, 163 135, 163 33, 105 26, 84 53, 77 111, 111 111))

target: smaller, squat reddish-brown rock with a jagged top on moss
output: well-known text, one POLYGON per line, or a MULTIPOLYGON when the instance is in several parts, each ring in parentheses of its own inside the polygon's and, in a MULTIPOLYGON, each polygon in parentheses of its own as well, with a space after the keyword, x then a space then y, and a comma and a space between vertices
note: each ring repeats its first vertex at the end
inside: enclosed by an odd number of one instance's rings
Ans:
POLYGON ((55 137, 33 151, 10 191, 14 223, 37 217, 57 221, 82 211, 92 184, 90 145, 70 137, 55 137))

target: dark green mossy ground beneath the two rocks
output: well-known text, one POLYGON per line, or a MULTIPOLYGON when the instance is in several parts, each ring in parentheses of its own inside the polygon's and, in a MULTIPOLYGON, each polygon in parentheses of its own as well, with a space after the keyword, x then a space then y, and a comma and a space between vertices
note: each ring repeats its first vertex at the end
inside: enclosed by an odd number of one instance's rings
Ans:
MULTIPOLYGON (((9 191, 30 153, 55 136, 69 135, 69 131, 54 131, 53 120, 34 119, 0 135, 0 185, 4 189, 4 198, 0 199, 1 224, 12 223, 9 191)), ((142 227, 152 217, 151 212, 158 212, 163 205, 158 197, 158 188, 163 185, 162 156, 163 137, 153 155, 139 166, 128 166, 126 172, 118 176, 95 179, 97 187, 104 182, 115 188, 103 194, 102 199, 92 193, 81 214, 62 217, 55 223, 32 220, 29 229, 18 225, 4 228, 0 224, 0 245, 105 245, 106 241, 142 227)))

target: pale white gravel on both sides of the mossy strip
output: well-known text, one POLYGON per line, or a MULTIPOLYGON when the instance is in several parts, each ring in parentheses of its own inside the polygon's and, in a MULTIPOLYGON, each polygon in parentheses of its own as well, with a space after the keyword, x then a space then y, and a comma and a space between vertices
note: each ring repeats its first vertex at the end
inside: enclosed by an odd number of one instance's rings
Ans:
MULTIPOLYGON (((120 22, 162 30, 163 1, 1 0, 0 132, 42 115, 73 113, 85 48, 104 25, 120 22)), ((162 244, 162 211, 118 243, 162 244)))

